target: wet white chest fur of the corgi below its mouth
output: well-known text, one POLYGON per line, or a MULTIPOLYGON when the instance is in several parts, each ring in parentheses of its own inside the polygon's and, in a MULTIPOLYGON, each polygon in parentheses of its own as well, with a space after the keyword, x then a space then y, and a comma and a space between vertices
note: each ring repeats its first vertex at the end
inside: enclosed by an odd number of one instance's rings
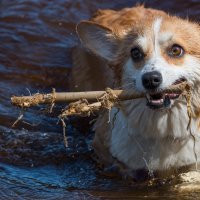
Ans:
MULTIPOLYGON (((195 153, 200 160, 198 123, 195 120, 191 123, 194 140, 187 130, 189 119, 183 103, 175 102, 171 109, 163 111, 149 109, 141 99, 126 102, 124 106, 111 127, 110 151, 129 168, 178 168, 196 163, 195 153)), ((113 108, 111 120, 116 112, 113 108)))

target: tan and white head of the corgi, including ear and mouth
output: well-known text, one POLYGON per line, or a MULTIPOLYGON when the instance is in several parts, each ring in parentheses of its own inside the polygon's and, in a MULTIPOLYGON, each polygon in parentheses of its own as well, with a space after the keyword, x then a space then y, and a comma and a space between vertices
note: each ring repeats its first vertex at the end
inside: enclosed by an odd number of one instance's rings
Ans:
POLYGON ((127 29, 110 29, 83 21, 77 26, 77 32, 87 48, 116 66, 125 89, 134 88, 147 94, 150 108, 167 108, 179 98, 180 95, 174 92, 162 92, 173 84, 187 81, 198 92, 198 24, 168 15, 155 15, 138 19, 127 29))

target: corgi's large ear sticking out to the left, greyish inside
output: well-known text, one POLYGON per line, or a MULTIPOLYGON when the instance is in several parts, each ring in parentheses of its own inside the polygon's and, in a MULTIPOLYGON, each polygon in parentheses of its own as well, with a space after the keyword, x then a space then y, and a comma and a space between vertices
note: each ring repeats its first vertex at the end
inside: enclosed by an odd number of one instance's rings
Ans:
POLYGON ((80 22, 76 30, 85 47, 108 61, 114 59, 118 41, 112 30, 89 21, 80 22))

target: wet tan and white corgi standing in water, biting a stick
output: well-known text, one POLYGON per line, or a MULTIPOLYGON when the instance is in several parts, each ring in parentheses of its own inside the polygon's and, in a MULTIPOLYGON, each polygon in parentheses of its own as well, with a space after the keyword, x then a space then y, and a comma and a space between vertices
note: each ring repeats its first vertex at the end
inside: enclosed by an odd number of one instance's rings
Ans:
POLYGON ((148 172, 198 167, 200 25, 136 6, 100 10, 80 22, 77 33, 83 44, 73 54, 78 90, 111 87, 147 96, 100 113, 93 145, 101 162, 117 161, 130 171, 148 172), (163 92, 184 81, 191 87, 190 131, 183 95, 163 92))

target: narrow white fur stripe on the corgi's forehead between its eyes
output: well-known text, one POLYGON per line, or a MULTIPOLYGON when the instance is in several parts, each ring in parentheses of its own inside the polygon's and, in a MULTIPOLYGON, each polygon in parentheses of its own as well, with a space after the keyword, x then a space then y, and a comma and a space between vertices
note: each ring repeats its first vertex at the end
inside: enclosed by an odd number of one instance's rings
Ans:
POLYGON ((159 39, 158 34, 161 27, 162 18, 157 18, 153 23, 153 34, 154 34, 154 51, 155 55, 160 55, 159 39))

